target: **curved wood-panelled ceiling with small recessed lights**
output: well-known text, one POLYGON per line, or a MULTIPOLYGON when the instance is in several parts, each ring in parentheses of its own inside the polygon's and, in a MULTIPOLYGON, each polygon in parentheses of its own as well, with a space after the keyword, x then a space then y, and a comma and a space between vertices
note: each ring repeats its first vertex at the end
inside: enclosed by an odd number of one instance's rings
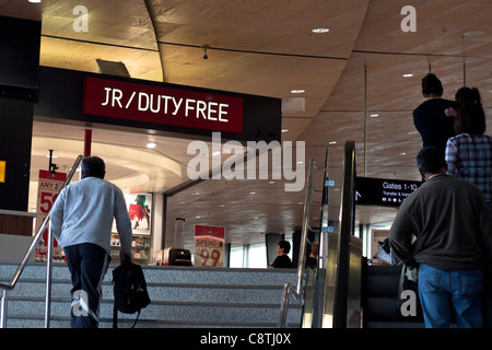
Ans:
MULTIPOLYGON (((323 165, 329 144, 329 177, 336 183, 330 188, 329 215, 337 220, 347 140, 356 143, 360 175, 419 179, 414 155, 421 140, 411 112, 423 101, 420 79, 430 70, 442 79, 446 98, 453 100, 465 84, 479 88, 491 127, 490 0, 413 0, 417 32, 401 28, 407 2, 0 0, 0 15, 43 22, 43 66, 98 72, 95 59, 101 58, 122 61, 132 78, 305 98, 304 113, 282 115, 282 129, 288 130, 282 140, 305 142, 303 166, 309 159, 323 165), (73 13, 77 5, 87 9, 86 18, 73 13), (75 32, 77 20, 87 20, 87 31, 75 32), (315 27, 329 32, 315 34, 315 27), (204 46, 208 59, 203 59, 204 46)), ((51 138, 54 144, 55 139, 80 144, 84 127, 37 120, 33 133, 35 139, 51 138)), ((189 139, 94 129, 93 141, 105 150, 130 148, 169 160, 181 174, 171 172, 172 185, 163 184, 157 179, 164 176, 161 170, 122 165, 126 156, 108 153, 112 178, 147 176, 152 184, 147 188, 156 191, 188 180, 189 139), (147 149, 149 140, 157 147, 147 149)), ((32 174, 47 162, 37 155, 46 152, 45 147, 33 150, 32 174)), ((65 151, 62 144, 57 147, 65 151)), ((125 183, 129 182, 121 183, 127 187, 125 183)), ((195 223, 226 226, 233 244, 260 242, 266 232, 290 233, 301 226, 304 191, 285 192, 284 184, 284 179, 202 182, 169 197, 166 231, 174 233, 173 218, 179 217, 187 218, 188 230, 195 223)), ((356 221, 391 220, 395 212, 358 207, 356 221)))

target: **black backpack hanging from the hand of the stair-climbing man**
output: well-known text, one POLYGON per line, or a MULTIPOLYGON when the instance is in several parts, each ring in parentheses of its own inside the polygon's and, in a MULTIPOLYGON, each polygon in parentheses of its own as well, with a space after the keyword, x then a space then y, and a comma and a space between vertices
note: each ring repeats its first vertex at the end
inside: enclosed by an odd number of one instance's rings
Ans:
POLYGON ((133 328, 139 319, 140 311, 151 302, 142 268, 130 261, 121 264, 113 270, 113 284, 115 293, 113 328, 118 328, 118 311, 124 314, 138 313, 131 326, 133 328))

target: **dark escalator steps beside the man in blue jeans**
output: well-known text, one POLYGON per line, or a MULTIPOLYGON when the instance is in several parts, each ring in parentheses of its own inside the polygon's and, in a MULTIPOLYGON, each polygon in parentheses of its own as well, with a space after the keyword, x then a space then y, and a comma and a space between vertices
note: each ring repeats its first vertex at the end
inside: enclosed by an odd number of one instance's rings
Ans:
POLYGON ((366 328, 424 328, 418 303, 417 316, 402 316, 398 308, 400 266, 371 265, 366 270, 364 326, 366 328))

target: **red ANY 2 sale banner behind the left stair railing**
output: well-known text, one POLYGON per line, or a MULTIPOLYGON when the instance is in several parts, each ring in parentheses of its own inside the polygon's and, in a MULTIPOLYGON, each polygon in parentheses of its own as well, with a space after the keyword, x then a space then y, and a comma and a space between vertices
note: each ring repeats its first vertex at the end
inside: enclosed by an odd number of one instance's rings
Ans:
MULTIPOLYGON (((36 206, 36 232, 39 230, 43 221, 47 217, 49 210, 58 197, 58 194, 63 186, 67 178, 65 173, 51 173, 49 171, 39 171, 39 185, 37 188, 37 206, 36 206)), ((36 247, 35 260, 46 261, 46 255, 48 253, 48 226, 46 226, 43 237, 39 240, 39 244, 36 247)), ((54 250, 52 250, 54 261, 63 261, 63 252, 58 242, 54 240, 54 250)))

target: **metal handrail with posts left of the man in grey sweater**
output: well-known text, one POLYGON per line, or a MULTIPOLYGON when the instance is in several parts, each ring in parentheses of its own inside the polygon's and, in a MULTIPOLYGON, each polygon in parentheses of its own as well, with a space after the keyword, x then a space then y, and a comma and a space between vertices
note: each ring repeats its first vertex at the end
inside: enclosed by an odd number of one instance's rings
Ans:
MULTIPOLYGON (((72 168, 70 170, 70 173, 67 175, 67 178, 61 186, 61 189, 63 189, 73 178, 73 175, 77 172, 77 168, 79 167, 80 163, 82 162, 83 156, 79 155, 73 163, 72 168)), ((60 190, 61 190, 60 189, 60 190)), ((56 199, 54 200, 55 205, 56 199)), ((27 265, 27 261, 31 259, 31 256, 33 255, 34 250, 36 249, 36 246, 43 236, 46 226, 49 224, 49 219, 51 214, 51 208, 49 209, 45 220, 43 220, 42 225, 37 230, 36 235, 33 238, 33 242, 31 243, 30 247, 27 248, 27 252, 24 255, 24 258, 22 259, 21 264, 19 265, 12 280, 8 283, 0 282, 0 289, 2 289, 2 296, 1 296, 1 303, 0 303, 0 328, 7 327, 7 291, 11 291, 15 288, 19 278, 22 275, 22 271, 24 271, 25 266, 27 265)), ((51 275, 52 275, 52 233, 51 233, 51 225, 48 226, 48 253, 47 253, 47 262, 46 262, 46 300, 45 300, 45 328, 49 328, 49 318, 50 318, 50 304, 51 304, 51 275)))

